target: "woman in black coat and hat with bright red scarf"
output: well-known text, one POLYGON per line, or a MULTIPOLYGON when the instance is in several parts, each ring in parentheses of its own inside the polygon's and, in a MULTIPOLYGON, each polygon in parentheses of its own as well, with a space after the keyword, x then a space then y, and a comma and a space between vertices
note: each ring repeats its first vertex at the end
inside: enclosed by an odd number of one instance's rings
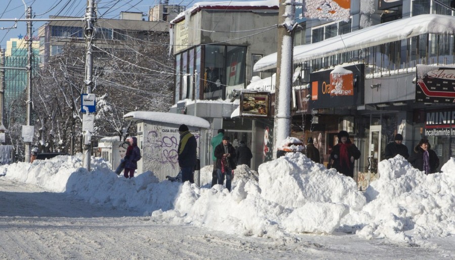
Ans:
POLYGON ((349 139, 348 132, 338 133, 338 144, 333 146, 330 158, 333 160, 332 168, 354 178, 354 161, 360 158, 360 151, 349 139))

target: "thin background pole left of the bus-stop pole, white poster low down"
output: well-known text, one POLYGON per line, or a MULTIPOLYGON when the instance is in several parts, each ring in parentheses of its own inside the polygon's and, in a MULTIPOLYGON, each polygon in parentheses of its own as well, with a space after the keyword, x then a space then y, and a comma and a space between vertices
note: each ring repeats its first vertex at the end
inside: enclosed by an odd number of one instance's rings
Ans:
MULTIPOLYGON (((31 19, 32 10, 31 7, 27 8, 27 19, 31 19)), ((32 22, 27 22, 27 35, 28 35, 28 59, 27 59, 27 126, 31 126, 31 117, 32 117, 32 43, 33 43, 33 35, 32 35, 32 22)), ((25 162, 30 163, 30 142, 25 143, 25 162)))

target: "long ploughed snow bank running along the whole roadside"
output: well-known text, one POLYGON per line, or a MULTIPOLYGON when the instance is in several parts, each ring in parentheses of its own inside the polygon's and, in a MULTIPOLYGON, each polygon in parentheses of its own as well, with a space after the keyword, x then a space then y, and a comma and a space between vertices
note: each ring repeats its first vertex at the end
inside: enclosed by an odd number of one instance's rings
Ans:
POLYGON ((379 164, 381 177, 366 193, 355 182, 288 153, 259 167, 239 166, 229 192, 211 188, 212 166, 203 167, 201 187, 189 182, 157 182, 145 172, 118 177, 101 159, 92 171, 78 157, 60 156, 32 164, 0 167, 0 176, 67 192, 94 204, 127 208, 170 223, 192 224, 231 234, 283 237, 309 232, 356 233, 366 239, 425 244, 430 237, 455 234, 455 159, 441 173, 425 175, 397 156, 379 164))

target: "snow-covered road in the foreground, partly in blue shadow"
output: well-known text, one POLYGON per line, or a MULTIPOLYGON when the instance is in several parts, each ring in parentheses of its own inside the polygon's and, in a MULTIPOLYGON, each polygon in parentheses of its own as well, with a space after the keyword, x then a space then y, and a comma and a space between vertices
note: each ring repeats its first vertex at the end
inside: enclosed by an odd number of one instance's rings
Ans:
POLYGON ((282 239, 233 236, 97 206, 67 193, 0 177, 1 259, 279 259, 455 257, 453 238, 437 248, 386 244, 355 235, 282 239))

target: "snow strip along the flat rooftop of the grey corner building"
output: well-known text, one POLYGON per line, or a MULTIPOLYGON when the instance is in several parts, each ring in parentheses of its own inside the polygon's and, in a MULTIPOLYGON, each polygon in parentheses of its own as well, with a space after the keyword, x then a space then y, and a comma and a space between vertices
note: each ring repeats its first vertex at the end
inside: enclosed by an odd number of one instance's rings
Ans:
POLYGON ((258 9, 258 8, 276 8, 278 9, 278 2, 276 0, 265 0, 265 1, 245 1, 245 2, 233 2, 233 1, 223 1, 223 2, 199 2, 193 5, 193 7, 188 8, 184 12, 178 14, 172 21, 171 24, 177 23, 183 20, 187 15, 196 13, 201 9, 231 9, 231 10, 242 10, 242 9, 258 9))

